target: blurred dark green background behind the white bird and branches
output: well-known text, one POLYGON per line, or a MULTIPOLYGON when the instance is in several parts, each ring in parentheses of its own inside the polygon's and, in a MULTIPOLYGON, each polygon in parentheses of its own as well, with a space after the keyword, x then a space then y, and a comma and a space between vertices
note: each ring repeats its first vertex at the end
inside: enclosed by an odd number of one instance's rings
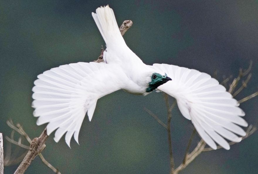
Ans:
MULTIPOLYGON (((124 38, 146 64, 168 63, 213 74, 238 74, 254 61, 252 79, 237 99, 257 91, 258 1, 0 1, 0 132, 9 136, 6 121, 20 123, 31 138, 36 126, 32 87, 37 75, 52 67, 96 60, 104 41, 91 17, 109 4, 118 24, 132 20, 124 38)), ((172 99, 171 99, 172 102, 172 99)), ((249 124, 258 120, 257 98, 240 105, 249 124)), ((53 134, 45 158, 65 173, 169 173, 167 132, 144 107, 166 121, 162 93, 134 96, 117 91, 99 99, 91 122, 85 117, 78 145, 71 149, 53 134)), ((176 108, 172 143, 176 165, 183 159, 193 126, 176 108)), ((18 137, 16 137, 18 138, 18 137)), ((194 139, 194 144, 198 137, 194 139)), ((258 166, 258 134, 224 149, 204 152, 181 173, 254 174, 258 166)), ((26 144, 26 141, 23 141, 26 144)), ((4 147, 7 147, 6 140, 4 147)), ((21 149, 21 151, 23 151, 21 149)), ((13 152, 14 153, 14 152, 13 152)), ((13 173, 18 165, 5 168, 13 173)), ((36 157, 29 173, 53 173, 36 157)))

